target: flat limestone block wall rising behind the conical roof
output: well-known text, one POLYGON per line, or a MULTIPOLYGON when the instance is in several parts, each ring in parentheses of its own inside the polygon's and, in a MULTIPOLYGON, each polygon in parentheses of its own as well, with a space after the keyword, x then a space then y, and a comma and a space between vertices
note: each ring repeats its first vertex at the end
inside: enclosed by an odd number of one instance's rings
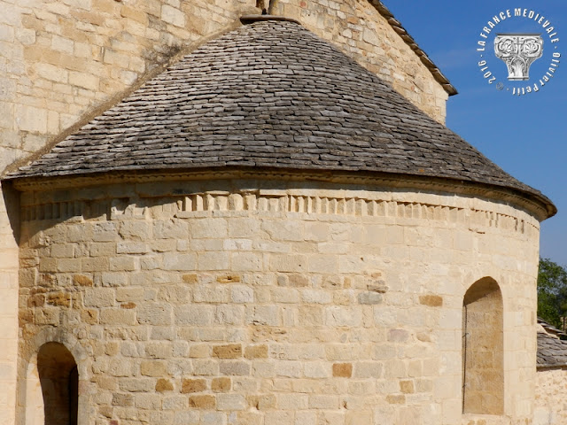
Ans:
MULTIPOLYGON (((0 170, 43 151, 176 55, 258 13, 255 0, 0 0, 0 170)), ((436 120, 447 93, 370 2, 281 0, 299 19, 392 83, 436 120)), ((0 424, 14 423, 19 224, 0 197, 0 424)), ((8 205, 17 209, 17 202, 8 205)))

